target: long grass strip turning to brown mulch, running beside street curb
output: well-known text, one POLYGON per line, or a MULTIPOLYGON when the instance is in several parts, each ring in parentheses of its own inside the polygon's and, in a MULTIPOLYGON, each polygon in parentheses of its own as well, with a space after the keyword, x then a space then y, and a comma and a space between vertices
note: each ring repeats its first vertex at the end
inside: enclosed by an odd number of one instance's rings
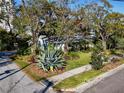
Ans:
POLYGON ((67 89, 67 88, 74 88, 81 83, 85 83, 88 80, 105 73, 111 69, 116 68, 117 66, 124 64, 124 59, 119 60, 118 62, 115 63, 108 63, 106 64, 101 70, 90 70, 75 76, 72 76, 70 78, 67 78, 60 82, 59 84, 55 85, 55 89, 67 89))

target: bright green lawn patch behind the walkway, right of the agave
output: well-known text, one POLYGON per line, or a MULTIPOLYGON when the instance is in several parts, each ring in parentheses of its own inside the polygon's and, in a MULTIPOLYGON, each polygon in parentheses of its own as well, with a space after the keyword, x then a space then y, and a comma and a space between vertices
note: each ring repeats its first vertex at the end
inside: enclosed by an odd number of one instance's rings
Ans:
POLYGON ((68 60, 66 71, 89 64, 89 62, 91 61, 91 53, 71 52, 69 55, 71 56, 77 55, 79 56, 79 58, 74 60, 68 60))

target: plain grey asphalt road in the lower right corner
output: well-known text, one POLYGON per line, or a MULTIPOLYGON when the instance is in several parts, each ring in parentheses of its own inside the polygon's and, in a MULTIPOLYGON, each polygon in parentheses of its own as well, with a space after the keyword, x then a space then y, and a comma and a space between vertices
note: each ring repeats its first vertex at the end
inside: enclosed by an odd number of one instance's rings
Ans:
POLYGON ((84 93, 124 93, 124 70, 102 80, 84 93))

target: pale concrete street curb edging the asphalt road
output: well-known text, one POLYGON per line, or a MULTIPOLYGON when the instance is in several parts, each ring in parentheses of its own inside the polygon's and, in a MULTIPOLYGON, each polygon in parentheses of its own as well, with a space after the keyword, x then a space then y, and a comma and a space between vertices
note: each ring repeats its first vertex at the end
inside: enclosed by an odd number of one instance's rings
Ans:
POLYGON ((87 89, 91 88, 92 86, 98 84, 100 81, 104 80, 105 78, 108 78, 112 75, 114 75, 115 73, 121 71, 122 69, 124 69, 124 64, 116 67, 115 69, 112 69, 108 72, 105 72, 104 74, 101 74, 89 81, 87 81, 86 83, 82 83, 79 86, 77 86, 76 88, 70 88, 70 89, 61 89, 62 91, 73 91, 75 93, 83 93, 85 92, 87 89))

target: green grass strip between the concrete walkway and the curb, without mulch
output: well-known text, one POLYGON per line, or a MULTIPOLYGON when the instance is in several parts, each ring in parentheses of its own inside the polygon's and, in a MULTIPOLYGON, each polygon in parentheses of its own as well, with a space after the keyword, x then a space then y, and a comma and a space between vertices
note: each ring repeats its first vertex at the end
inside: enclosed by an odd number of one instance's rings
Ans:
POLYGON ((67 79, 63 80, 62 82, 60 82, 59 84, 55 85, 54 88, 55 89, 73 88, 83 82, 84 83, 87 82, 89 79, 91 79, 95 76, 98 76, 101 73, 103 73, 103 71, 101 71, 101 70, 90 70, 90 71, 72 76, 70 78, 67 78, 67 79))

